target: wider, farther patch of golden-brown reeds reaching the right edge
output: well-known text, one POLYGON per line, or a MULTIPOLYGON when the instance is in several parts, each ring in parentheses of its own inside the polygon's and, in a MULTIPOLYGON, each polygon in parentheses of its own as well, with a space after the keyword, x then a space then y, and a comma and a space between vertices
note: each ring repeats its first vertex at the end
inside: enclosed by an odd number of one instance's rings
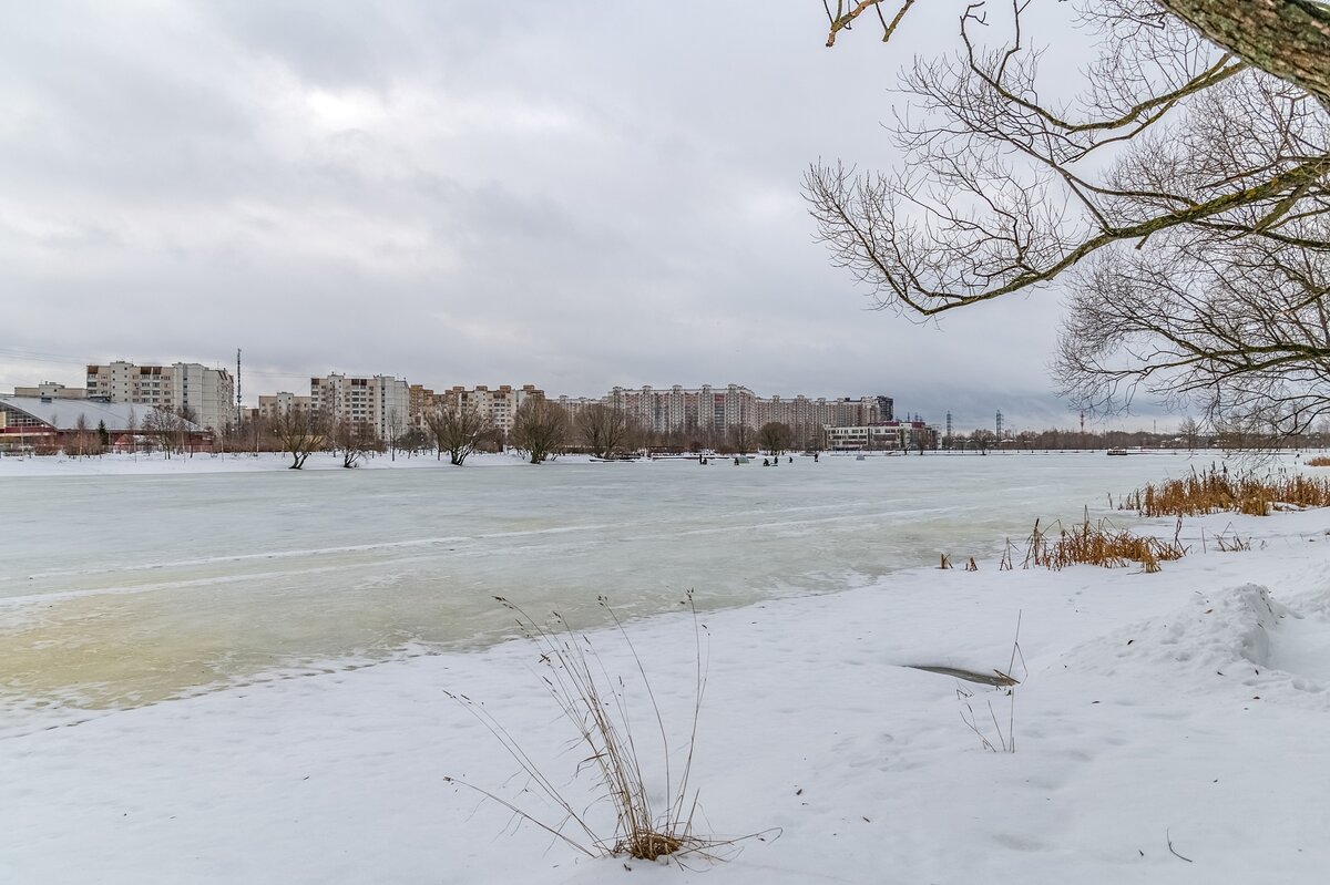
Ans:
POLYGON ((1269 516, 1277 505, 1295 508, 1330 506, 1330 478, 1301 473, 1257 476, 1229 473, 1228 468, 1192 472, 1181 480, 1146 485, 1123 500, 1121 509, 1144 517, 1205 516, 1244 513, 1269 516))

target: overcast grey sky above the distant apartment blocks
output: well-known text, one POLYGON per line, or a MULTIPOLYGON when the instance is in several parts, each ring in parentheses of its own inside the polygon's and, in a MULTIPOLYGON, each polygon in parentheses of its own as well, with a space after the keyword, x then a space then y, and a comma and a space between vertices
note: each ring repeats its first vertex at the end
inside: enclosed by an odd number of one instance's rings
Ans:
POLYGON ((919 326, 814 241, 805 167, 890 166, 904 52, 952 45, 920 7, 829 50, 817 0, 8 3, 0 389, 239 347, 249 403, 738 383, 1069 427, 1056 292, 919 326))

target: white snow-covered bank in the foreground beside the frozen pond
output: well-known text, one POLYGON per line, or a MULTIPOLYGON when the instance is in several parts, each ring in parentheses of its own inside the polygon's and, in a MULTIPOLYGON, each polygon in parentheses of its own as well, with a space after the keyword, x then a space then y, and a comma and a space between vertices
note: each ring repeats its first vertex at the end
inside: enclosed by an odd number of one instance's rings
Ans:
MULTIPOLYGON (((1040 464, 1035 473, 1060 469, 1040 464)), ((690 481, 688 469, 674 482, 690 481)), ((799 469, 782 476, 793 482, 799 469)), ((1165 465, 1156 470, 1161 478, 1165 465)), ((1072 473, 1045 478, 1076 486, 1072 473)), ((817 555, 818 534, 801 537, 817 555)), ((462 692, 576 805, 595 795, 587 773, 576 776, 585 752, 569 747, 575 735, 539 680, 539 650, 515 639, 273 671, 77 716, 0 710, 0 881, 1322 882, 1330 512, 1188 520, 1182 540, 1192 553, 1152 575, 1019 562, 999 571, 999 537, 978 549, 975 573, 883 569, 841 593, 805 589, 704 611, 696 828, 763 833, 722 852, 725 861, 588 860, 446 780, 539 813, 520 768, 446 694, 462 692), (1218 551, 1221 532, 1252 549, 1218 551), (1024 679, 1013 696, 908 666, 1005 670, 1017 617, 1024 679), (990 739, 999 727, 1007 738, 1013 722, 1016 751, 986 749, 962 719, 970 711, 990 739)), ((705 605, 706 587, 697 593, 705 605)), ((665 714, 677 772, 693 621, 660 614, 626 634, 665 714)), ((636 664, 612 630, 591 639, 606 671, 626 679, 644 764, 656 772, 661 752, 636 664)))

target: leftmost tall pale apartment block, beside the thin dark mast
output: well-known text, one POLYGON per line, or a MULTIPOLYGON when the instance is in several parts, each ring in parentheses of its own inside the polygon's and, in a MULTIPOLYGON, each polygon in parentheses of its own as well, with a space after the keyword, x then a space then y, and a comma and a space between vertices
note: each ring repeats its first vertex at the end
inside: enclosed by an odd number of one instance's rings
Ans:
POLYGON ((235 420, 235 381, 225 368, 200 363, 136 365, 124 360, 88 365, 88 397, 192 415, 200 427, 222 429, 235 420))

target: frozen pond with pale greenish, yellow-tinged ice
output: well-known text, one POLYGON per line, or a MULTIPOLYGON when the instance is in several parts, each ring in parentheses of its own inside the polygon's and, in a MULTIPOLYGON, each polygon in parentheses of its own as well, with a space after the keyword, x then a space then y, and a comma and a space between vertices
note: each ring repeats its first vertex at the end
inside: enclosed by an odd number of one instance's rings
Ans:
MULTIPOLYGON (((1178 476, 1180 456, 795 457, 164 476, 0 469, 0 692, 152 703, 489 643, 493 602, 596 622, 826 593, 938 559, 994 567, 1035 517, 1178 476)), ((0 465, 3 468, 3 465, 0 465)), ((1125 517, 1124 517, 1125 520, 1125 517)))

